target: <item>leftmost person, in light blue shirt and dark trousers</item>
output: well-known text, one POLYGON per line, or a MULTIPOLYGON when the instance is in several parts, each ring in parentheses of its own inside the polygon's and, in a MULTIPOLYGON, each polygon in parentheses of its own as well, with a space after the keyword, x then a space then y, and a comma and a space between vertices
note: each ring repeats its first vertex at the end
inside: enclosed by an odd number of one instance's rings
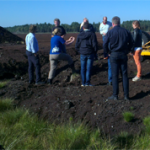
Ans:
POLYGON ((34 67, 36 68, 36 85, 44 84, 41 82, 41 72, 40 72, 40 60, 39 60, 39 47, 38 41, 35 37, 36 25, 31 25, 29 27, 29 33, 25 37, 26 42, 26 55, 28 57, 28 73, 29 73, 29 84, 34 82, 34 67))

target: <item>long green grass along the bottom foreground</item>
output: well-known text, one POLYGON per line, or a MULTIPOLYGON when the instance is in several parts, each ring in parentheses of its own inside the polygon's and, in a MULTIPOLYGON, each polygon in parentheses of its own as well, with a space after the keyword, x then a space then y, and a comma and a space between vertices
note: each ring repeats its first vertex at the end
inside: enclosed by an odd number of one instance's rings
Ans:
MULTIPOLYGON (((13 108, 11 99, 0 100, 0 145, 14 149, 149 149, 150 134, 133 136, 121 132, 113 139, 101 136, 82 123, 50 124, 22 108, 13 108)), ((143 120, 150 126, 150 117, 143 120)))

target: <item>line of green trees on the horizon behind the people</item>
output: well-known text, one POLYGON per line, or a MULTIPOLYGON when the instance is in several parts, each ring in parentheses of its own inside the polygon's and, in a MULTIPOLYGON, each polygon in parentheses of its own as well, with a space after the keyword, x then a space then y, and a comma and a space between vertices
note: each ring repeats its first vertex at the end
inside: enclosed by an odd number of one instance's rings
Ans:
MULTIPOLYGON (((150 31, 150 21, 149 20, 139 20, 140 24, 141 24, 141 29, 144 31, 150 31)), ((133 20, 130 21, 124 21, 121 26, 126 28, 129 31, 132 31, 132 22, 133 20)), ((37 32, 52 32, 52 29, 54 27, 54 24, 50 24, 50 23, 40 23, 40 24, 36 24, 37 25, 37 32)), ((99 32, 99 25, 100 22, 95 23, 93 22, 93 27, 95 29, 96 32, 99 32)), ((7 29, 8 31, 12 32, 12 33, 28 33, 29 31, 29 26, 30 24, 25 24, 25 25, 20 25, 20 26, 13 26, 13 27, 7 27, 5 29, 7 29)), ((61 26, 63 26, 66 30, 66 32, 79 32, 80 31, 80 23, 78 22, 72 22, 71 25, 69 24, 61 24, 61 26)))

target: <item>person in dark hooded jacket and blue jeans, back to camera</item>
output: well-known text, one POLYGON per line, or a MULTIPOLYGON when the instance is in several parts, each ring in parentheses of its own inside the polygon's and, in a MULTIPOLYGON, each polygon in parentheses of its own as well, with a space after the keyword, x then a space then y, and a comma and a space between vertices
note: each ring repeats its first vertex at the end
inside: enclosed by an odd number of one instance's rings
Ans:
POLYGON ((89 30, 89 23, 83 25, 83 32, 81 32, 76 41, 76 49, 80 53, 81 61, 81 86, 92 86, 90 83, 91 70, 93 66, 94 55, 97 52, 97 39, 95 33, 89 30))

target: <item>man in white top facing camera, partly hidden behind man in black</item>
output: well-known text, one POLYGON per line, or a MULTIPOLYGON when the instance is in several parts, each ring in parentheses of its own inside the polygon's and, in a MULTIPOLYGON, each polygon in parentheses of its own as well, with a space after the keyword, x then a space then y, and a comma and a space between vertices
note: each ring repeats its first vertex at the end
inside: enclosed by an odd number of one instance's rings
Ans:
MULTIPOLYGON (((103 42, 105 40, 105 36, 107 32, 112 27, 112 23, 107 21, 107 17, 103 17, 103 22, 99 26, 100 34, 102 35, 103 42)), ((109 46, 110 48, 110 46, 109 46)), ((107 85, 112 85, 112 74, 111 74, 111 65, 110 65, 110 58, 107 54, 104 53, 104 59, 108 59, 108 83, 107 85)))

